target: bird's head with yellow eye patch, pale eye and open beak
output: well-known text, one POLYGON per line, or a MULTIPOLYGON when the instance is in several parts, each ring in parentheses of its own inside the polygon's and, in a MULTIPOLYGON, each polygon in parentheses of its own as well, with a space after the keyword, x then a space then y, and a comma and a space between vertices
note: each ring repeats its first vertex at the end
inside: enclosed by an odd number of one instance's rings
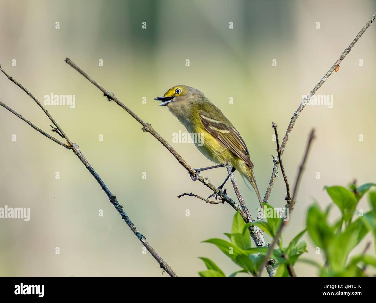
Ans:
POLYGON ((198 89, 186 85, 176 85, 167 90, 163 97, 154 100, 162 101, 159 106, 183 106, 197 101, 201 96, 203 93, 198 89))

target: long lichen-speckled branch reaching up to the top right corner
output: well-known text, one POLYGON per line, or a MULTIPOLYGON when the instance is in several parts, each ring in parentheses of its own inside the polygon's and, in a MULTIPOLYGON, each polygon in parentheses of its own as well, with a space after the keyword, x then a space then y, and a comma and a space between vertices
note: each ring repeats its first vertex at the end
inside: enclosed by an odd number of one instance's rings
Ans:
MULTIPOLYGON (((283 154, 283 152, 285 150, 288 138, 290 137, 291 131, 293 130, 293 127, 295 125, 296 120, 298 119, 300 113, 302 112, 302 110, 304 109, 304 107, 306 106, 306 104, 309 103, 309 100, 311 99, 311 96, 313 96, 317 92, 317 90, 324 84, 324 82, 327 80, 327 78, 329 78, 329 76, 332 74, 332 72, 335 70, 335 68, 338 65, 340 65, 340 63, 342 62, 342 60, 347 56, 348 53, 350 53, 350 50, 353 48, 353 46, 355 45, 355 43, 360 39, 360 37, 365 32, 365 30, 371 25, 371 23, 373 21, 375 21, 375 19, 376 19, 376 13, 374 13, 373 16, 370 18, 370 20, 368 20, 368 22, 361 29, 361 31, 358 33, 358 35, 356 35, 355 39, 350 43, 349 47, 347 47, 343 51, 343 53, 338 58, 338 60, 333 64, 333 66, 324 75, 324 77, 321 78, 321 80, 316 84, 316 86, 314 87, 314 89, 311 90, 311 92, 308 94, 308 96, 306 96, 306 98, 303 99, 302 103, 299 105, 299 107, 296 110, 296 112, 294 112, 293 117, 291 118, 290 124, 287 127, 287 131, 286 131, 285 137, 282 140, 282 145, 280 146, 280 151, 281 151, 280 154, 281 155, 283 154)), ((278 163, 274 162, 273 173, 271 174, 269 185, 267 187, 267 190, 266 190, 266 193, 265 193, 265 196, 264 196, 264 203, 267 203, 268 200, 269 200, 269 197, 270 197, 270 194, 271 194, 271 190, 273 189, 274 182, 276 181, 276 177, 277 177, 276 171, 278 169, 278 165, 279 165, 278 163)))

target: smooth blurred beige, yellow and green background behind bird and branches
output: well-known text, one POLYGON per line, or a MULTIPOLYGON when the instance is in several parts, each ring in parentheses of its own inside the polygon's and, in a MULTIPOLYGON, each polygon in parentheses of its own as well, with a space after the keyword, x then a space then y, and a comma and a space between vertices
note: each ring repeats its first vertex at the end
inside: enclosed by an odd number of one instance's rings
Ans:
MULTIPOLYGON (((211 163, 192 143, 172 142, 173 133, 185 129, 153 99, 176 84, 201 90, 242 134, 264 196, 272 173, 271 154, 276 155, 272 121, 282 140, 302 95, 318 83, 375 9, 374 1, 0 0, 0 63, 41 102, 51 93, 76 96, 74 109, 47 110, 178 276, 197 277, 205 269, 199 256, 211 258, 230 274, 238 266, 212 244, 200 242, 225 238, 233 209, 194 197, 178 199, 184 192, 206 197, 211 191, 191 181, 157 140, 68 66, 65 57, 152 124, 195 168, 211 163)), ((297 120, 284 152, 290 184, 311 128, 317 139, 284 241, 303 229, 310 204, 330 203, 324 185, 376 181, 375 35, 372 24, 318 91, 333 96, 333 107, 307 106, 297 120), (364 66, 359 66, 360 59, 364 66), (364 136, 362 142, 359 135, 364 136)), ((3 74, 0 90, 3 103, 59 139, 39 107, 3 74)), ((0 276, 168 276, 149 253, 142 253, 142 244, 72 152, 3 107, 0 142, 0 207, 30 207, 28 222, 0 219, 0 276)), ((219 185, 226 173, 223 168, 202 175, 219 185)), ((235 176, 256 216, 255 193, 235 176)), ((226 188, 235 198, 231 185, 226 188)), ((280 174, 269 203, 282 207, 284 197, 280 174)), ((358 209, 368 210, 366 198, 358 209)), ((338 215, 332 208, 331 219, 338 215)), ((315 253, 307 235, 303 238, 309 250, 305 258, 322 264, 322 255, 315 253)), ((309 265, 297 263, 295 268, 298 276, 316 274, 309 265)))

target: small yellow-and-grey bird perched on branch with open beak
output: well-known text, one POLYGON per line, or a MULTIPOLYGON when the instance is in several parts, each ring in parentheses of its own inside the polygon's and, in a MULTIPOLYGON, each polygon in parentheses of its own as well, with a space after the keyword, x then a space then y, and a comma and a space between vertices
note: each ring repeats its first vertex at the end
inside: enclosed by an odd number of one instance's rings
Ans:
MULTIPOLYGON (((194 140, 194 144, 206 158, 218 164, 195 169, 196 175, 191 176, 192 179, 197 180, 203 170, 231 165, 231 172, 218 188, 222 190, 231 174, 238 170, 255 189, 258 200, 262 204, 246 143, 218 107, 200 90, 186 85, 173 86, 163 97, 155 100, 163 101, 159 105, 167 106, 185 126, 188 133, 201 135, 200 142, 194 140)), ((212 196, 214 194, 208 199, 212 196)))

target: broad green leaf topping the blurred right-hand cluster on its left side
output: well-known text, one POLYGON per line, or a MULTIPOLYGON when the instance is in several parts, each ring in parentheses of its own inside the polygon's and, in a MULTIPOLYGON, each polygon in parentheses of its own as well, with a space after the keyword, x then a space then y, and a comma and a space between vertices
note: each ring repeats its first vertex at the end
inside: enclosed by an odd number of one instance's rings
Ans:
POLYGON ((358 199, 356 199, 354 193, 342 186, 326 187, 326 191, 340 209, 344 221, 347 223, 350 222, 356 204, 358 204, 358 199))

